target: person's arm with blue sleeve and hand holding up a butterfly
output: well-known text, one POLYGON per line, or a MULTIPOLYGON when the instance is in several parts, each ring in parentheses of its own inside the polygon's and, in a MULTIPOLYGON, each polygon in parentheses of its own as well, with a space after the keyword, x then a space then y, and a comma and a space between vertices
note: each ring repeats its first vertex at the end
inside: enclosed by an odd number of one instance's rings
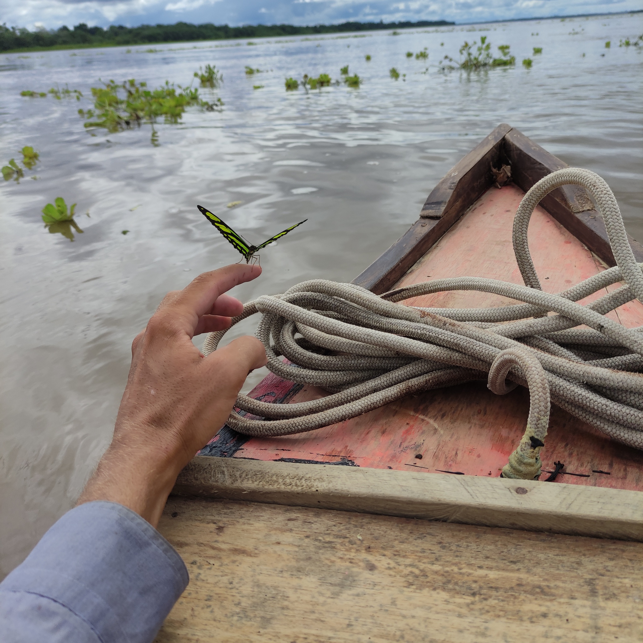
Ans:
POLYGON ((0 584, 8 643, 148 643, 188 582, 154 529, 179 471, 226 421, 261 343, 239 338, 207 358, 192 343, 230 325, 225 291, 258 266, 227 266, 168 294, 132 344, 114 438, 78 505, 0 584), (143 520, 145 519, 145 520, 143 520))

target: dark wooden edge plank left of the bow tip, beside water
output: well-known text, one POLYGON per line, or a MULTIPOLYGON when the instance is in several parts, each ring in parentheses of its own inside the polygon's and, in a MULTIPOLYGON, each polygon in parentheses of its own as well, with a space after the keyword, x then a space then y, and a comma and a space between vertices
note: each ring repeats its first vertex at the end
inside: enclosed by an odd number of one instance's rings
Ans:
POLYGON ((501 165, 503 140, 509 131, 511 125, 498 125, 475 149, 458 161, 433 188, 422 207, 419 221, 353 283, 377 294, 390 289, 492 185, 491 165, 501 165))

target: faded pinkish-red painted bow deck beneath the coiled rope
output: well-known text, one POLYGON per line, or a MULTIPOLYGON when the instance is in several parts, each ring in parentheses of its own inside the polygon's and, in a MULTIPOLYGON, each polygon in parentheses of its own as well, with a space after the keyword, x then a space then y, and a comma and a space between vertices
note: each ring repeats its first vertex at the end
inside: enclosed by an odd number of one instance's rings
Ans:
MULTIPOLYGON (((491 187, 395 287, 457 276, 483 276, 523 284, 512 249, 514 214, 524 195, 510 183, 491 187)), ((606 265, 538 206, 529 225, 529 247, 543 290, 557 293, 606 269, 606 265)), ((581 303, 619 287, 614 284, 581 303)), ((417 297, 409 305, 491 307, 516 303, 491 293, 457 291, 417 297)), ((643 325, 643 305, 626 303, 609 316, 626 327, 643 325)), ((271 374, 251 397, 292 403, 326 395, 271 374)), ((387 404, 311 433, 246 438, 228 429, 203 455, 286 462, 329 462, 410 471, 500 475, 525 431, 529 392, 518 387, 495 395, 485 382, 431 390, 387 404)), ((643 451, 611 440, 569 413, 552 407, 541 453, 543 470, 565 465, 556 481, 619 489, 643 489, 643 451)), ((549 474, 541 475, 541 480, 549 474)))

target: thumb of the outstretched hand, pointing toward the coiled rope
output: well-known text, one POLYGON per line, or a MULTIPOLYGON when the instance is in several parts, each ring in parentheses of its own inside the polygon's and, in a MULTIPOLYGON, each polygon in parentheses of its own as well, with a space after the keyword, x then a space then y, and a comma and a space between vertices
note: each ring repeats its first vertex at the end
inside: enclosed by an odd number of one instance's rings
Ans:
POLYGON ((210 372, 210 377, 218 381, 219 394, 232 395, 236 399, 248 373, 266 366, 267 361, 264 345, 256 337, 244 335, 208 355, 203 366, 210 372))

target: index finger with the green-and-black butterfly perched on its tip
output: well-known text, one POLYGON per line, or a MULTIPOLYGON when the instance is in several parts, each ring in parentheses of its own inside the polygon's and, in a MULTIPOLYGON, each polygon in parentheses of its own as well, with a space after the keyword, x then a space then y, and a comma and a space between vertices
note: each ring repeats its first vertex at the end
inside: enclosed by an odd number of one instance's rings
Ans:
POLYGON ((171 301, 159 307, 158 312, 171 315, 172 325, 178 325, 179 329, 192 337, 199 318, 212 311, 220 294, 227 292, 235 285, 249 282, 260 274, 261 266, 248 264, 233 264, 203 273, 183 290, 178 291, 171 301))

